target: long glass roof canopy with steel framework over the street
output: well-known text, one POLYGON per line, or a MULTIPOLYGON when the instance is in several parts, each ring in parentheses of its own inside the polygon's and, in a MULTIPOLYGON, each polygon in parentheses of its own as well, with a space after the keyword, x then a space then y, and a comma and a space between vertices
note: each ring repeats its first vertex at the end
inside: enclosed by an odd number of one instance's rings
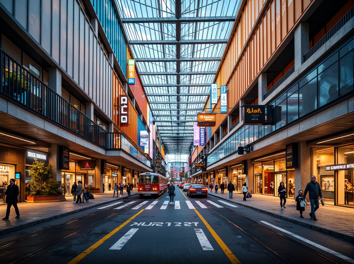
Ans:
POLYGON ((115 0, 166 154, 189 154, 241 0, 115 0))

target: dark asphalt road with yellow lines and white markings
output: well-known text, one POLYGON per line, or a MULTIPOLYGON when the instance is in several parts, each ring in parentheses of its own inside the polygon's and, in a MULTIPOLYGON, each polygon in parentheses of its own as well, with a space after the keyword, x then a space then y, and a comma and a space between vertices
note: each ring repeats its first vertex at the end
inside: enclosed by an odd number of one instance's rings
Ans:
POLYGON ((0 236, 2 263, 354 263, 353 245, 216 197, 112 202, 0 236))

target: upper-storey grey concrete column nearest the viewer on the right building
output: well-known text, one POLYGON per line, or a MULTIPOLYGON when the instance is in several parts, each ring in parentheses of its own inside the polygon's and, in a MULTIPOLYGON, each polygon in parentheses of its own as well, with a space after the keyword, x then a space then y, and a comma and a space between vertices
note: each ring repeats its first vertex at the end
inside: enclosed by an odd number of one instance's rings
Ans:
POLYGON ((304 55, 309 51, 309 24, 300 23, 295 29, 295 70, 304 62, 304 55))

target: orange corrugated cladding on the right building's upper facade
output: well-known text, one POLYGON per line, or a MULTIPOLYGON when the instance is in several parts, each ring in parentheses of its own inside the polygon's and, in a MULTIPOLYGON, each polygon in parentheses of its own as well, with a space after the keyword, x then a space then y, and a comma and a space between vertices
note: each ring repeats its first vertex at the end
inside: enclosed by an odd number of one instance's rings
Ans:
MULTIPOLYGON (((216 83, 218 86, 228 86, 228 108, 234 107, 239 101, 241 95, 257 77, 265 63, 311 3, 311 0, 271 1, 258 28, 251 36, 248 46, 241 54, 264 1, 248 0, 246 2, 227 54, 217 74, 216 83), (233 71, 238 60, 238 65, 233 71)), ((219 107, 219 102, 216 107, 219 107)), ((221 118, 217 118, 216 127, 212 129, 212 132, 215 132, 225 118, 225 115, 218 115, 221 118)))

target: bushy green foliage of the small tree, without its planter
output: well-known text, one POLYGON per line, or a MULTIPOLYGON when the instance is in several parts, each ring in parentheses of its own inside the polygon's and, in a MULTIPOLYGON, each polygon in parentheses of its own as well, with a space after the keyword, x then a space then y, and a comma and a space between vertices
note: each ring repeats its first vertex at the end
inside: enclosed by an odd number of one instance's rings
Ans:
POLYGON ((34 159, 32 166, 28 173, 32 180, 29 182, 32 188, 32 196, 46 196, 46 195, 62 195, 62 181, 53 180, 53 166, 48 164, 45 166, 43 161, 34 159))

